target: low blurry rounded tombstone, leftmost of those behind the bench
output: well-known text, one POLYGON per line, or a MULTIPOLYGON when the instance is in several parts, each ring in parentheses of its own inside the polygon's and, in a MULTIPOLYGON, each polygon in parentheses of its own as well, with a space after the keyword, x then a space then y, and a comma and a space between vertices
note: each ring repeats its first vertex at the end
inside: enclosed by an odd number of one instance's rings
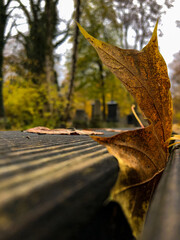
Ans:
POLYGON ((86 128, 88 127, 88 116, 82 109, 77 109, 75 117, 73 119, 73 125, 75 128, 86 128))

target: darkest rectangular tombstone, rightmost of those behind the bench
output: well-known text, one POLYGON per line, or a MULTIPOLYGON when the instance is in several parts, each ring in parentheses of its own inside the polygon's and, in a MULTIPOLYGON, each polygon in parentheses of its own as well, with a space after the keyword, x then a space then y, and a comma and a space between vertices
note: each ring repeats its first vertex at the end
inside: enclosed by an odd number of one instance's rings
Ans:
POLYGON ((118 104, 115 101, 108 102, 108 117, 107 122, 118 122, 119 121, 119 109, 118 104))

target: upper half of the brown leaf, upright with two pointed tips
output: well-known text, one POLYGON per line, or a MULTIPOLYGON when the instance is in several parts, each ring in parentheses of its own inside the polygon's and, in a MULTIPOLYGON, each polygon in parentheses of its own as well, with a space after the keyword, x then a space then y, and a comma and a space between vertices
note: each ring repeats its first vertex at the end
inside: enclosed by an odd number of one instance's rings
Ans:
POLYGON ((102 62, 122 81, 145 117, 154 124, 163 145, 171 136, 172 101, 167 66, 158 49, 157 25, 149 43, 137 51, 97 40, 78 24, 102 62))

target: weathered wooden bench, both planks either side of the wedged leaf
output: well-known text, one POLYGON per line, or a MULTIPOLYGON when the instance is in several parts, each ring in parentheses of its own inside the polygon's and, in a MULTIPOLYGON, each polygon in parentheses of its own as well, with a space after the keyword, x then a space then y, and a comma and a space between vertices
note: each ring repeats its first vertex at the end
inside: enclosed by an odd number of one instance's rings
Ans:
MULTIPOLYGON (((104 204, 118 171, 88 136, 0 132, 0 240, 132 240, 120 206, 104 204)), ((179 239, 179 172, 175 147, 142 240, 179 239)))

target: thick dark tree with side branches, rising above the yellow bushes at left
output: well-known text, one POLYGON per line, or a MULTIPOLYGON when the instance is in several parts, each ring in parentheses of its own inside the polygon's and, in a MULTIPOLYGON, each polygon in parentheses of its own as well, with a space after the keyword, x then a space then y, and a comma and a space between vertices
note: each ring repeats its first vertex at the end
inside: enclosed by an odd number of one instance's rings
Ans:
POLYGON ((67 29, 59 31, 57 5, 59 0, 29 0, 28 9, 21 0, 16 0, 27 19, 28 32, 19 32, 26 59, 24 67, 34 76, 34 82, 39 82, 39 76, 44 75, 46 82, 57 84, 54 70, 54 51, 63 43, 69 33, 67 29), (57 37, 62 35, 61 39, 57 37))

